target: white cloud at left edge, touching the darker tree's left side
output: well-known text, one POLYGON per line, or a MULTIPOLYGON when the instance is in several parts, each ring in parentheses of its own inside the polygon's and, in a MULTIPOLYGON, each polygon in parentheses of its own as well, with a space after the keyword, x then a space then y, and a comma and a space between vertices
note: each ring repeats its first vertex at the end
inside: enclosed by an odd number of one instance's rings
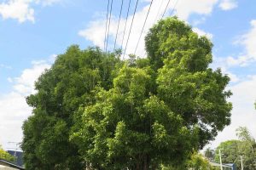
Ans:
POLYGON ((35 93, 34 82, 49 67, 47 61, 33 62, 32 68, 22 71, 20 77, 9 77, 9 82, 14 83, 12 91, 0 95, 0 144, 5 149, 9 146, 9 141, 21 141, 22 123, 32 112, 32 108, 26 105, 25 98, 35 93))

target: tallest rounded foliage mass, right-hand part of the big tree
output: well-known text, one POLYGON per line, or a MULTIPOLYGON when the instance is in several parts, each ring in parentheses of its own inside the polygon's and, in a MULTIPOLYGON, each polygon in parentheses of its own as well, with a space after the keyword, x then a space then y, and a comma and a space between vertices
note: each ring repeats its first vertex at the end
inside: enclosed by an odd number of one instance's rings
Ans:
POLYGON ((146 37, 148 59, 159 73, 158 96, 183 117, 187 127, 200 125, 200 146, 230 124, 230 78, 212 71, 212 43, 183 22, 161 20, 146 37))

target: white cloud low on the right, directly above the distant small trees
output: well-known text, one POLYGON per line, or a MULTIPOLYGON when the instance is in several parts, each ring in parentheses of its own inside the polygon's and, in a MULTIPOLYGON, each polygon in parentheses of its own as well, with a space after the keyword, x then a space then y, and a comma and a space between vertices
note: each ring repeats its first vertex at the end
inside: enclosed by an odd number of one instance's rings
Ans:
POLYGON ((231 124, 224 128, 224 131, 218 133, 218 137, 212 142, 212 148, 217 147, 220 142, 228 139, 236 139, 236 128, 245 126, 256 137, 256 111, 253 103, 256 99, 256 75, 246 81, 237 83, 230 87, 233 96, 230 101, 233 103, 231 124))

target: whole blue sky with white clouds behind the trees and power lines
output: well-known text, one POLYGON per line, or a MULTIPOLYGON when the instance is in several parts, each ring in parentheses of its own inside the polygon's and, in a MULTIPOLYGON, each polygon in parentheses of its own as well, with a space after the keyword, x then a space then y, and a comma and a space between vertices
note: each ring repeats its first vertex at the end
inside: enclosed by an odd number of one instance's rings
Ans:
MULTIPOLYGON (((139 0, 127 53, 133 53, 151 0, 139 0)), ((135 0, 131 0, 131 13, 135 0)), ((154 0, 143 37, 153 26, 156 14, 163 13, 165 0, 154 0), (163 2, 162 8, 160 3, 163 2)), ((35 93, 33 82, 53 63, 56 54, 68 46, 103 46, 107 0, 0 0, 0 143, 20 142, 20 126, 31 115, 25 96, 35 93)), ((109 50, 113 48, 121 0, 113 0, 109 50)), ((125 1, 124 9, 127 10, 125 1)), ((256 2, 254 0, 171 0, 166 16, 176 14, 193 26, 199 35, 207 35, 213 44, 212 68, 229 74, 234 104, 232 124, 212 142, 236 138, 235 128, 247 126, 256 137, 256 2), (253 48, 255 47, 255 48, 253 48)), ((120 22, 118 46, 124 26, 120 22)), ((131 24, 131 13, 128 26, 131 24)), ((127 32, 125 33, 125 40, 127 32)), ((137 55, 144 54, 143 38, 137 55)))

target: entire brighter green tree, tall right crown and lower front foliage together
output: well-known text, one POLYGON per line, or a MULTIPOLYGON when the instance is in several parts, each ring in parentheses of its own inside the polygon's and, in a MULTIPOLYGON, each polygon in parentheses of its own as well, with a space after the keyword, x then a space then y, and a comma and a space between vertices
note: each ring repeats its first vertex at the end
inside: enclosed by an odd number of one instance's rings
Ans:
POLYGON ((150 29, 146 49, 148 59, 129 59, 113 88, 99 88, 96 103, 81 108, 71 139, 92 168, 177 165, 230 124, 230 78, 208 68, 207 37, 169 18, 150 29))

